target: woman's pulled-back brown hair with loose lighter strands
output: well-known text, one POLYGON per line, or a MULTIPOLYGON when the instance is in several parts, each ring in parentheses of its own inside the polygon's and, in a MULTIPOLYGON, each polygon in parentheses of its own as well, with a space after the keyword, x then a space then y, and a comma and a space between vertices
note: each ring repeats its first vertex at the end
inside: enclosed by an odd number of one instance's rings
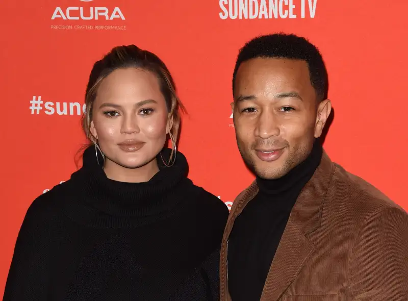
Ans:
POLYGON ((172 142, 172 152, 169 162, 174 156, 175 146, 180 131, 180 112, 184 106, 176 94, 176 88, 170 71, 164 62, 154 53, 140 49, 135 45, 117 46, 111 50, 103 59, 97 61, 92 68, 89 82, 85 94, 85 113, 82 116, 82 128, 87 139, 96 144, 96 138, 90 131, 92 121, 92 108, 95 102, 96 93, 100 83, 113 71, 122 68, 138 68, 155 74, 159 81, 160 90, 166 101, 167 110, 172 118, 170 138, 172 142))

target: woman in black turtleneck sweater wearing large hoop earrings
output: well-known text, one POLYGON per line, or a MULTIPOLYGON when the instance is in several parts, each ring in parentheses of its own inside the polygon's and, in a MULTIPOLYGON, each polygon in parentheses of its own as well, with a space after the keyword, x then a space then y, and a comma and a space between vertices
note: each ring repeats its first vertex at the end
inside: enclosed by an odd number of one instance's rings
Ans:
POLYGON ((92 145, 30 206, 5 301, 218 300, 228 210, 186 177, 180 107, 156 55, 120 46, 95 63, 83 118, 92 145))

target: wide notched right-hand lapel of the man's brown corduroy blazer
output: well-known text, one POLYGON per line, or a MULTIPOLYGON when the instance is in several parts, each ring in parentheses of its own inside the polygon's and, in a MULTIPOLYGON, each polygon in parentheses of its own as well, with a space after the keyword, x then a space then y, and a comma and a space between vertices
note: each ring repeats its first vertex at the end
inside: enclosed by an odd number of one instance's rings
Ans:
POLYGON ((315 245, 308 234, 320 227, 321 213, 334 164, 326 153, 311 180, 303 187, 276 249, 261 301, 278 300, 295 280, 315 245))

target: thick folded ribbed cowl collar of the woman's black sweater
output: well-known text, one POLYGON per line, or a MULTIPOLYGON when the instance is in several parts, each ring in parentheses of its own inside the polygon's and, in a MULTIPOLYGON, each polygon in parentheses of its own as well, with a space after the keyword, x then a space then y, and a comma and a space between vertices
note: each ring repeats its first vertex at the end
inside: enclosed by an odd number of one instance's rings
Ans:
POLYGON ((188 164, 185 156, 177 152, 175 162, 167 167, 171 149, 164 148, 157 156, 159 172, 149 181, 125 183, 109 179, 98 164, 95 147, 85 149, 83 166, 71 175, 70 185, 77 196, 75 218, 88 221, 95 227, 123 227, 129 223, 143 224, 145 219, 155 219, 180 202, 174 190, 181 182, 192 183, 187 178, 188 164), (163 157, 163 160, 162 160, 163 157))

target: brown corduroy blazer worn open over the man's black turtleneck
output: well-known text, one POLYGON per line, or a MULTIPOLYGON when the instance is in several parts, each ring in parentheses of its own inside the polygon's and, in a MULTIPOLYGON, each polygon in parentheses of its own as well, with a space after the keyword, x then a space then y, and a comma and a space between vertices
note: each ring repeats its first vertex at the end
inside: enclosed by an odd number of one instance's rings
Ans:
MULTIPOLYGON (((253 182, 231 209, 221 245, 221 301, 231 300, 228 237, 257 193, 253 182)), ((407 301, 407 213, 324 152, 296 200, 269 269, 261 301, 272 300, 407 301)))

